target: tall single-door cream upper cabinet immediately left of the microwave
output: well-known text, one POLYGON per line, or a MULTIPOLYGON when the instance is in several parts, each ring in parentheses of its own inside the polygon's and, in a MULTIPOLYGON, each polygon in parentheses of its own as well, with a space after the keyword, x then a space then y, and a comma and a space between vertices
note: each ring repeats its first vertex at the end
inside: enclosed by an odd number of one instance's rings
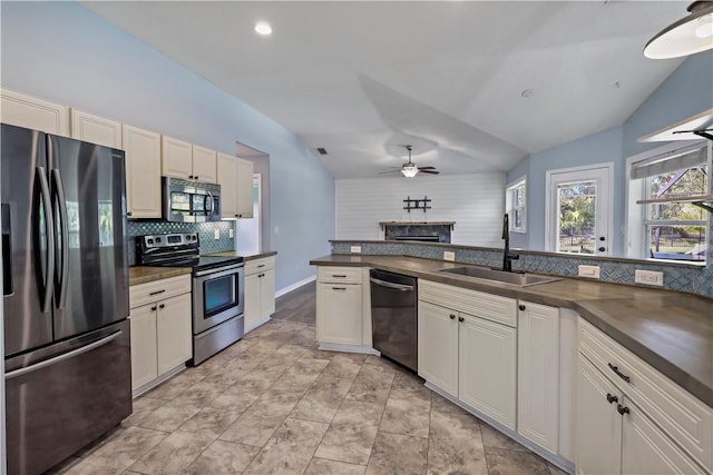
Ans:
POLYGON ((124 125, 129 218, 160 218, 160 135, 124 125))

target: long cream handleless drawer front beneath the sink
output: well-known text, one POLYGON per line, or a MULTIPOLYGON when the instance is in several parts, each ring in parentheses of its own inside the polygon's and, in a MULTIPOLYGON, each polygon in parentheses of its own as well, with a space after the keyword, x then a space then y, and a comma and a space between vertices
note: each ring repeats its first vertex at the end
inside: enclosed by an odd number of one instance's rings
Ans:
POLYGON ((517 300, 419 279, 419 299, 517 327, 517 300))

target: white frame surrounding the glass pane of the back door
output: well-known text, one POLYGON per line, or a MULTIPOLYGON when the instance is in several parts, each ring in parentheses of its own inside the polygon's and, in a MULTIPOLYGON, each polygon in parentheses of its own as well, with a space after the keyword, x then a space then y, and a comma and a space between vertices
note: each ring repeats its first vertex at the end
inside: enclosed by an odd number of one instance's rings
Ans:
MULTIPOLYGON (((557 168, 553 170, 547 170, 545 172, 545 250, 550 253, 557 253, 555 246, 556 237, 553 236, 553 231, 555 230, 557 224, 557 217, 554 215, 555 207, 557 206, 553 202, 553 180, 557 175, 565 174, 575 174, 579 175, 578 178, 574 180, 587 180, 592 179, 592 176, 588 176, 589 171, 600 171, 604 174, 608 181, 609 192, 605 194, 606 196, 602 197, 604 199, 604 206, 607 210, 607 216, 605 219, 605 225, 607 227, 607 245, 606 251, 598 254, 595 253, 592 256, 612 256, 613 251, 613 240, 612 236, 614 235, 614 162, 605 161, 600 164, 592 164, 584 165, 578 167, 568 167, 568 168, 557 168)), ((602 199, 597 194, 597 200, 602 199)), ((555 230, 556 231, 556 230, 555 230)), ((554 232, 556 234, 556 232, 554 232)), ((596 249, 596 247, 595 247, 596 249)))

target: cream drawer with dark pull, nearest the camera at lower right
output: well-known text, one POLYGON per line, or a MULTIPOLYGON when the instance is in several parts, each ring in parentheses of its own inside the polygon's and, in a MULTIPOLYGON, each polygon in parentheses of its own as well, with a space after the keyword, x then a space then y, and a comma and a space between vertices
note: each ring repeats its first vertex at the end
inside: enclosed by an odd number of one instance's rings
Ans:
POLYGON ((579 352, 691 456, 713 469, 713 408, 583 318, 578 331, 579 352))

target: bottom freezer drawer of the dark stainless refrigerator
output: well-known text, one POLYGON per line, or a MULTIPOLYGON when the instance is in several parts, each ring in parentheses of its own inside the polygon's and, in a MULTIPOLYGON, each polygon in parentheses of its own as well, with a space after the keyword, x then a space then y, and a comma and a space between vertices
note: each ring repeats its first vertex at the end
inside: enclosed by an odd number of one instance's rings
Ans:
POLYGON ((131 413, 129 321, 6 374, 9 474, 39 474, 131 413))

